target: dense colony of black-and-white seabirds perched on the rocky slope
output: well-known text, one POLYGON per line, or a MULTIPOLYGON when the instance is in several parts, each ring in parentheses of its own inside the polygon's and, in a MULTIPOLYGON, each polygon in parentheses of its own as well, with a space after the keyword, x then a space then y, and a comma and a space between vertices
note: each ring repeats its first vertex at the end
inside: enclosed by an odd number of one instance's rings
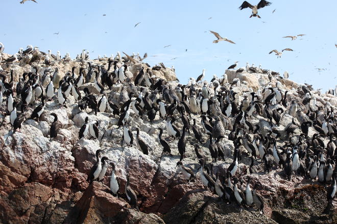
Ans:
MULTIPOLYGON (((268 173, 272 169, 282 167, 284 176, 288 180, 291 180, 294 174, 308 177, 314 181, 318 177, 319 182, 330 183, 327 189, 329 202, 334 198, 337 174, 337 166, 335 166, 337 162, 336 111, 329 102, 323 106, 317 106, 316 98, 312 97, 311 86, 303 85, 297 90, 283 90, 279 81, 281 77, 278 73, 247 65, 247 69, 244 68, 244 70, 248 72, 255 72, 257 75, 267 72, 270 82, 256 92, 240 94, 234 91, 235 88, 242 85, 239 79, 234 79, 232 83, 229 83, 227 75, 224 74, 223 78, 214 76, 210 82, 207 82, 203 81, 205 77, 205 70, 203 70, 197 80, 191 77, 187 85, 179 84, 175 89, 172 89, 164 79, 156 78, 152 74, 154 70, 163 69, 163 64, 151 68, 135 54, 131 56, 126 54, 126 57, 121 57, 118 52, 114 58, 101 59, 106 62, 105 64, 108 64, 106 69, 104 65, 89 61, 89 55, 84 51, 77 60, 87 67, 81 67, 79 74, 75 74, 76 68, 73 67, 72 71, 67 72, 63 78, 60 78, 58 67, 52 71, 50 66, 57 65, 57 63, 68 63, 69 60, 66 57, 63 59, 54 57, 51 51, 44 53, 38 48, 28 46, 25 51, 20 49, 19 53, 14 55, 15 60, 11 57, 0 61, 7 68, 10 68, 13 63, 34 65, 34 70, 23 73, 17 83, 13 80, 14 71, 7 72, 0 66, 0 104, 6 101, 5 114, 9 115, 13 134, 26 119, 35 119, 39 122, 46 100, 57 101, 61 107, 66 107, 67 99, 74 97, 81 110, 91 109, 90 113, 95 115, 108 112, 113 117, 117 116, 117 128, 123 128, 122 147, 124 143, 130 147, 135 142, 138 149, 144 154, 149 154, 151 150, 149 150, 148 144, 139 137, 140 130, 138 128, 136 128, 137 134, 134 138, 132 134, 134 128, 129 127, 129 120, 131 117, 136 117, 153 123, 158 122, 157 115, 159 114, 159 122, 164 122, 168 138, 179 139, 180 160, 177 162, 177 166, 187 181, 196 178, 195 171, 183 164, 186 156, 186 134, 194 136, 195 139, 192 142, 198 142, 198 144, 190 144, 194 145, 196 156, 201 165, 201 181, 207 189, 214 191, 225 201, 236 202, 239 205, 247 204, 248 206, 255 203, 260 211, 263 210, 263 198, 256 190, 251 189, 250 179, 248 179, 245 189, 242 183, 240 187, 237 184, 240 178, 236 176, 238 163, 243 154, 247 154, 247 152, 251 155, 249 169, 251 174, 263 175, 263 172, 258 172, 255 164, 264 163, 264 171, 268 173), (29 60, 27 61, 27 59, 29 60), (129 67, 136 63, 140 63, 142 67, 133 80, 129 78, 131 73, 129 67), (11 77, 9 82, 6 81, 8 75, 11 77), (271 85, 272 81, 276 81, 274 88, 271 85), (89 82, 92 82, 94 88, 100 93, 99 99, 88 88, 83 91, 79 90, 84 83, 89 82), (116 93, 111 91, 110 94, 107 94, 107 92, 116 85, 122 86, 122 90, 119 93, 118 103, 113 103, 112 98, 116 93), (293 94, 298 94, 300 98, 303 98, 303 101, 298 102, 292 99, 293 94), (38 101, 41 102, 35 106, 31 116, 26 118, 27 108, 33 107, 38 101), (20 108, 19 113, 17 108, 20 108), (292 116, 292 122, 282 132, 277 127, 286 113, 292 116), (258 124, 252 124, 250 120, 257 116, 262 116, 269 122, 269 131, 263 131, 258 124), (202 129, 197 125, 197 118, 201 119, 202 129), (191 124, 191 119, 193 124, 191 124), (177 120, 183 124, 182 130, 178 129, 175 124, 177 120), (231 123, 233 123, 232 128, 229 128, 231 123), (311 126, 317 133, 309 137, 308 130, 311 126), (298 136, 298 141, 294 142, 293 133, 298 128, 301 130, 301 134, 298 136), (231 132, 226 135, 225 129, 229 129, 231 132), (213 162, 225 159, 227 149, 222 144, 222 139, 225 137, 233 141, 234 159, 225 173, 217 173, 214 176, 213 162), (324 137, 330 139, 327 144, 322 140, 324 137), (206 144, 205 138, 208 138, 206 144), (277 145, 278 140, 281 140, 282 146, 277 145), (208 161, 200 144, 205 144, 206 147, 208 145, 212 161, 208 161), (247 152, 244 152, 244 149, 247 152)), ((236 64, 237 62, 229 69, 234 69, 236 64)), ((237 69, 236 72, 243 71, 237 69)), ((131 77, 133 77, 132 73, 131 77)), ((56 113, 51 115, 54 116, 50 127, 52 141, 58 135, 60 123, 56 113)), ((87 137, 87 135, 98 138, 98 127, 98 121, 89 123, 87 117, 84 125, 80 128, 79 138, 87 137)), ((162 153, 163 155, 172 155, 172 146, 167 142, 167 137, 165 138, 163 135, 164 130, 160 127, 158 137, 159 143, 163 147, 162 153)), ((107 157, 101 157, 101 153, 102 150, 96 152, 97 162, 88 175, 88 181, 91 183, 94 180, 102 180, 107 166, 111 164, 110 188, 113 195, 117 195, 120 184, 114 170, 115 164, 109 163, 107 157)), ((129 177, 127 177, 125 190, 131 206, 137 208, 137 196, 130 187, 129 177)))

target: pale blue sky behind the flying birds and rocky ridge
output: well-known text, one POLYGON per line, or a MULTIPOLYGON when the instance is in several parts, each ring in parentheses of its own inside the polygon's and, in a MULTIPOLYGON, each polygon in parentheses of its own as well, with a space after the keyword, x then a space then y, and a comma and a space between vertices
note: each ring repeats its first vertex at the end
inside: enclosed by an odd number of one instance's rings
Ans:
MULTIPOLYGON (((278 0, 258 11, 261 19, 249 18, 251 9, 238 10, 243 1, 112 1, 112 0, 1 0, 0 42, 6 53, 20 47, 38 46, 72 58, 88 49, 90 58, 100 54, 148 53, 151 66, 174 65, 180 82, 221 76, 239 61, 309 83, 323 91, 337 85, 337 1, 278 0), (273 10, 275 12, 273 13, 273 10), (103 16, 105 14, 106 16, 103 16), (134 25, 139 23, 136 27, 134 25), (209 30, 234 41, 212 43, 209 30), (58 35, 54 33, 58 33, 58 35), (284 36, 306 34, 291 41, 284 36), (165 47, 171 45, 170 47, 165 47), (285 51, 277 59, 273 49, 285 51), (187 51, 186 51, 187 49, 187 51), (176 59, 174 59, 176 58, 176 59), (174 59, 174 60, 173 60, 174 59), (324 70, 318 70, 324 69, 324 70)), ((249 0, 257 5, 258 0, 249 0)))

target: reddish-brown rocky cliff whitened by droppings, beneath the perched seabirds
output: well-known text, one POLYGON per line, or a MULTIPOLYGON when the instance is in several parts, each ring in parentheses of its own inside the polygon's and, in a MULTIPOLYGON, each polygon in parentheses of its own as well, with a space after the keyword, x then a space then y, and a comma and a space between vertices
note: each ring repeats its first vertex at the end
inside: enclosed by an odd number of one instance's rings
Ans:
MULTIPOLYGON (((9 55, 3 54, 3 60, 9 55)), ((94 64, 107 67, 107 59, 94 60, 94 64)), ((14 71, 14 81, 17 82, 24 72, 34 71, 38 67, 38 75, 43 75, 47 67, 43 64, 43 58, 33 63, 22 60, 16 64, 3 63, 2 68, 8 72, 14 71)), ((86 67, 86 62, 81 60, 55 62, 49 68, 59 68, 61 78, 76 66, 75 73, 79 74, 79 68, 86 67)), ((141 66, 137 63, 130 65, 133 79, 141 66)), ((3 72, 4 73, 4 72, 3 72)), ((71 72, 70 72, 71 73, 71 72)), ((226 71, 228 80, 239 78, 240 86, 223 83, 237 92, 238 102, 241 102, 247 92, 263 90, 270 85, 271 88, 280 88, 284 92, 288 90, 289 102, 291 100, 302 101, 303 95, 298 91, 300 85, 288 79, 277 76, 269 80, 268 75, 255 73, 235 73, 226 71)), ((154 80, 166 79, 166 85, 175 90, 178 83, 174 71, 170 68, 161 68, 152 72, 154 80)), ((194 76, 194 75, 191 75, 194 76)), ((220 80, 221 82, 221 80, 220 80)), ((128 92, 132 88, 126 82, 128 92)), ((110 99, 118 104, 118 97, 123 84, 116 83, 111 90, 110 99)), ((89 88, 97 94, 97 99, 102 97, 95 92, 93 83, 85 83, 80 89, 89 88)), ((140 91, 141 87, 136 87, 140 91)), ((147 87, 145 91, 152 92, 147 87)), ((201 87, 197 87, 201 89, 201 87)), ((212 88, 210 93, 213 94, 212 88)), ((108 92, 110 90, 107 89, 108 92)), ((81 91, 83 96, 84 93, 81 91)), ((156 93, 155 93, 156 94, 156 93)), ((318 107, 330 108, 336 111, 337 98, 329 94, 311 90, 310 94, 316 98, 318 107)), ((14 93, 14 96, 17 95, 14 93)), ((134 96, 138 96, 135 93, 134 96)), ((161 98, 161 96, 159 96, 161 98)), ((118 128, 118 116, 113 118, 107 109, 103 113, 95 115, 90 109, 80 110, 73 97, 68 97, 66 107, 58 104, 57 99, 47 101, 40 121, 29 119, 33 109, 40 104, 36 99, 28 106, 26 120, 22 123, 20 131, 13 134, 9 121, 6 103, 1 107, 0 144, 0 222, 1 223, 336 223, 337 202, 328 203, 326 188, 329 184, 319 183, 317 180, 309 180, 298 174, 294 174, 289 181, 283 175, 283 170, 273 169, 265 172, 264 163, 258 159, 255 161, 258 173, 250 174, 250 159, 243 149, 242 160, 238 163, 235 175, 246 186, 247 177, 250 176, 251 187, 256 189, 263 198, 264 209, 260 214, 254 206, 239 207, 236 203, 227 203, 220 200, 215 192, 203 185, 200 179, 200 163, 194 147, 196 139, 193 132, 186 134, 187 146, 184 165, 190 167, 196 174, 194 181, 188 182, 181 172, 178 172, 176 164, 180 159, 177 144, 178 140, 170 138, 172 155, 162 155, 162 146, 158 140, 158 128, 165 129, 165 121, 156 115, 153 122, 147 116, 138 118, 131 111, 128 125, 136 138, 135 128, 140 129, 140 138, 148 144, 149 155, 140 152, 134 143, 133 146, 122 147, 122 128, 118 128), (50 139, 50 126, 53 122, 51 113, 56 113, 61 128, 56 139, 50 139), (89 122, 98 121, 99 138, 88 136, 79 139, 79 130, 84 124, 85 118, 89 122), (107 156, 116 165, 115 171, 120 181, 119 198, 114 197, 110 191, 111 167, 108 167, 104 179, 89 184, 87 176, 95 163, 95 152, 102 149, 102 156, 107 156), (131 209, 125 193, 126 174, 130 175, 130 183, 138 200, 139 210, 131 209)), ((118 105, 119 107, 121 105, 118 105)), ((281 136, 277 145, 283 145, 287 136, 284 128, 292 122, 292 116, 288 114, 288 108, 282 107, 284 114, 280 125, 274 127, 281 136)), ((176 126, 182 130, 183 125, 177 116, 176 126)), ((200 115, 191 114, 190 121, 196 119, 196 125, 202 131, 200 115)), ((225 176, 228 166, 233 161, 233 142, 228 139, 232 131, 235 117, 222 117, 226 136, 221 140, 225 156, 222 160, 213 162, 213 173, 220 172, 225 176)), ((272 130, 266 115, 254 115, 249 121, 260 130, 272 130)), ((335 122, 335 121, 334 121, 335 122)), ((297 142, 301 133, 295 131, 291 141, 297 142)), ((204 131, 203 131, 204 133, 204 131)), ((313 127, 309 127, 308 136, 318 133, 313 127)), ((253 136, 253 134, 252 134, 253 136)), ((168 137, 164 130, 164 137, 168 137)), ((203 134, 203 143, 200 144, 208 161, 211 155, 208 150, 208 137, 203 134)), ((323 137, 325 146, 329 139, 323 137)), ((242 147, 242 146, 241 146, 242 147)))

